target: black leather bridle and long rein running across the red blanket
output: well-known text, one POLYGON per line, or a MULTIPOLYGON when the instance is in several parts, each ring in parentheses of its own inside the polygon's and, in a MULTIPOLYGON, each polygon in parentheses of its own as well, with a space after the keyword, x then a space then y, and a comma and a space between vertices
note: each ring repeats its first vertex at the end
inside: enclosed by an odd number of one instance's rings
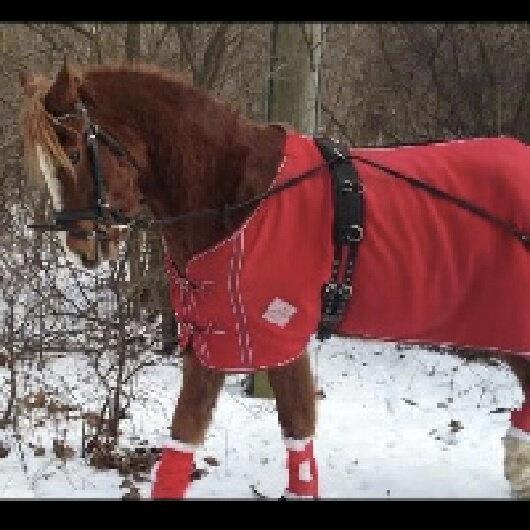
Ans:
POLYGON ((86 108, 81 103, 78 103, 77 111, 78 112, 76 114, 64 114, 59 117, 52 117, 52 121, 57 125, 65 127, 61 123, 62 120, 73 117, 80 117, 83 120, 83 134, 85 135, 87 142, 87 149, 89 152, 89 158, 92 167, 92 179, 94 183, 93 208, 89 210, 63 210, 59 212, 54 212, 55 223, 33 224, 28 225, 29 228, 44 231, 70 231, 71 233, 75 233, 78 236, 84 235, 88 238, 94 237, 95 239, 101 239, 101 236, 104 235, 101 230, 95 229, 93 233, 79 230, 73 231, 68 227, 68 225, 72 221, 83 220, 94 221, 97 225, 102 226, 127 225, 131 229, 149 230, 154 229, 158 226, 166 226, 184 220, 219 216, 220 214, 224 216, 231 212, 244 210, 246 208, 256 206, 261 201, 272 197, 277 193, 281 193, 282 191, 292 188, 300 182, 303 182, 304 180, 312 178, 313 176, 315 176, 315 174, 317 174, 324 168, 332 168, 335 164, 339 164, 344 160, 356 160, 363 164, 370 165, 376 169, 379 169, 387 176, 403 180, 411 186, 418 188, 424 192, 427 192, 438 199, 448 201, 461 209, 464 209, 486 221, 493 223, 494 225, 498 226, 505 232, 509 233, 510 235, 521 241, 521 243, 523 243, 530 250, 530 232, 520 230, 514 224, 496 216, 495 214, 489 212, 481 206, 478 206, 472 203, 471 201, 463 199, 462 197, 458 197, 446 191, 443 191, 437 188, 436 186, 428 184, 423 180, 411 177, 409 175, 405 175, 395 169, 387 167, 383 164, 379 164, 378 162, 375 162, 373 160, 369 160, 360 155, 345 155, 344 153, 337 153, 337 156, 335 158, 326 160, 322 164, 315 166, 282 184, 273 186, 263 193, 260 193, 258 195, 255 195, 254 197, 251 197, 235 204, 225 204, 217 208, 203 208, 200 210, 193 210, 191 212, 185 212, 175 216, 164 217, 162 219, 130 217, 125 215, 120 210, 112 209, 106 202, 105 178, 101 170, 101 165, 99 161, 98 140, 104 143, 116 156, 125 157, 136 170, 140 171, 140 167, 134 160, 134 157, 131 156, 129 151, 124 148, 116 138, 114 138, 110 133, 106 132, 99 125, 95 124, 90 120, 86 108))

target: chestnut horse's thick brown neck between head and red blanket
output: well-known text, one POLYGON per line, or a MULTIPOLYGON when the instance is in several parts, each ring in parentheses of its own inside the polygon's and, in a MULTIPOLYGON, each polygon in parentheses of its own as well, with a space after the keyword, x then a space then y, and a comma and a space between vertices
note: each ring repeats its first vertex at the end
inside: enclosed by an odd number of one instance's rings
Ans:
MULTIPOLYGON (((96 106, 107 115, 121 111, 111 132, 129 136, 125 145, 145 162, 138 191, 157 218, 240 202, 265 191, 276 175, 285 137, 281 127, 253 124, 198 89, 172 87, 148 74, 96 73, 87 79, 88 93, 91 86, 97 96, 94 112, 96 106), (127 128, 135 132, 130 135, 127 128)), ((168 250, 182 267, 233 232, 249 213, 168 226, 168 250)))

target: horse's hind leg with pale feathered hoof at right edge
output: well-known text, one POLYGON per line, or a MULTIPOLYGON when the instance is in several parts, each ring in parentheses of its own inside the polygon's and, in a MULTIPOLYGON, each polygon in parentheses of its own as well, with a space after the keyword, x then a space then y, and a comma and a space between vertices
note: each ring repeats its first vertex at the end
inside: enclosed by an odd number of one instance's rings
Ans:
POLYGON ((504 438, 504 475, 517 498, 530 498, 530 361, 507 359, 523 390, 523 405, 512 411, 504 438))

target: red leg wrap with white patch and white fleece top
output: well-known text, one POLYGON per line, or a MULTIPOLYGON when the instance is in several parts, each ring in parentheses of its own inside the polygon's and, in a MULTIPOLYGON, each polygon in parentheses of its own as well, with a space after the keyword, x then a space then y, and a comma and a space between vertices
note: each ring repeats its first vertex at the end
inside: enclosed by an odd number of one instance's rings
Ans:
POLYGON ((313 440, 285 439, 289 486, 287 498, 315 499, 318 497, 318 470, 313 456, 313 440))

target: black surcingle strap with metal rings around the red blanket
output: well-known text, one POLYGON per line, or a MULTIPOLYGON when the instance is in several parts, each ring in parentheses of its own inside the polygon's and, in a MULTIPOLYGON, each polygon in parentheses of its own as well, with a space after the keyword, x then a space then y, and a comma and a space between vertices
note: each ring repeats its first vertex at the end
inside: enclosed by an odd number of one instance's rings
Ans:
POLYGON ((363 188, 348 158, 348 147, 330 138, 315 137, 328 163, 334 190, 334 257, 331 278, 322 286, 322 313, 317 338, 328 339, 342 321, 352 296, 352 275, 363 238, 363 188))

